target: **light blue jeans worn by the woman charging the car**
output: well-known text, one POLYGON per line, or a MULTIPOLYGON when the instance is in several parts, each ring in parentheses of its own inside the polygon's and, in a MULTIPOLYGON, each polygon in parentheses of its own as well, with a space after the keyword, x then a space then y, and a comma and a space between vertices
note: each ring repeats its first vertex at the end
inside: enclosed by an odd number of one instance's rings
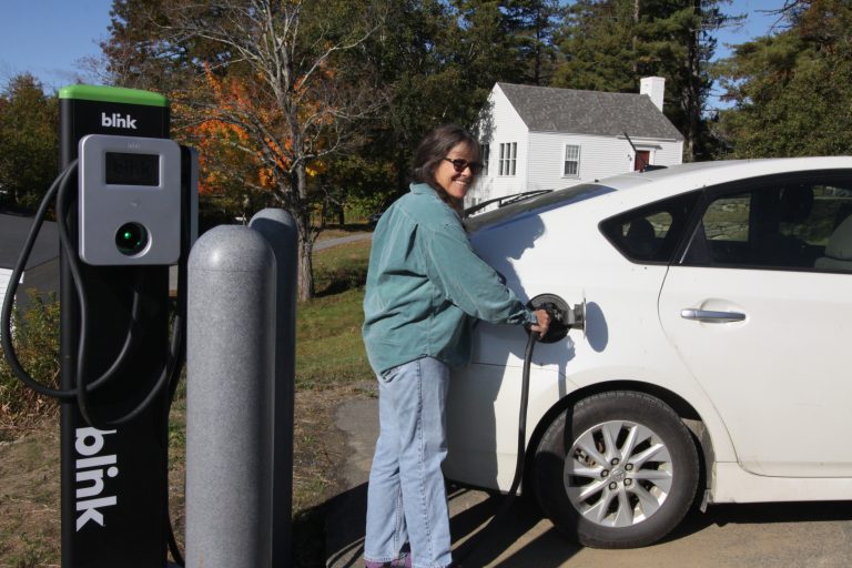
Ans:
POLYGON ((364 558, 388 562, 408 541, 416 568, 453 561, 440 464, 449 368, 422 357, 378 377, 379 434, 367 489, 364 558))

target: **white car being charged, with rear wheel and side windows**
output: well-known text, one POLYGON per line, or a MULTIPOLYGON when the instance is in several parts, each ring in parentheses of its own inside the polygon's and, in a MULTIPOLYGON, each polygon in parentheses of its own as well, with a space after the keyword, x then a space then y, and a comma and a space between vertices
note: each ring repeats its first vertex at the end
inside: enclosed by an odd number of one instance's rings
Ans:
MULTIPOLYGON (((684 164, 467 223, 521 297, 587 303, 530 373, 524 488, 559 529, 628 548, 693 504, 852 499, 852 158, 684 164)), ((526 336, 474 335, 444 470, 505 491, 526 336)))

